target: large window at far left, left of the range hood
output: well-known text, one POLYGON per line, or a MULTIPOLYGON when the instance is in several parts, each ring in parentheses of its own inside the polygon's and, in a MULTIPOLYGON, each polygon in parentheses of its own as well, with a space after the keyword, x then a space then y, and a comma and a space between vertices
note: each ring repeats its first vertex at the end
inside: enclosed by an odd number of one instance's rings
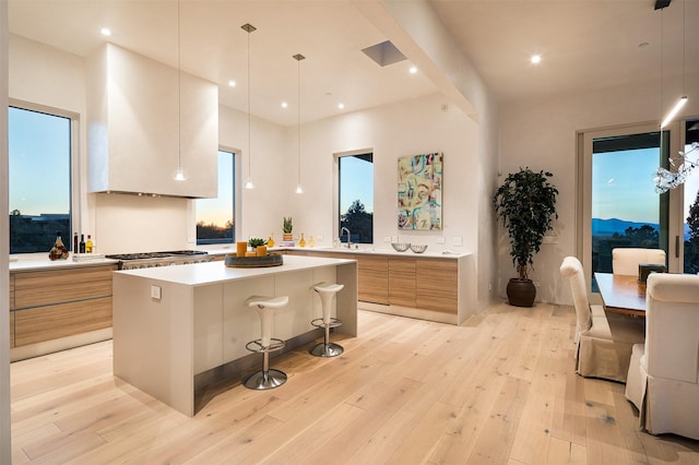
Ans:
POLYGON ((61 233, 72 245, 71 160, 75 115, 10 106, 10 253, 47 252, 61 233))

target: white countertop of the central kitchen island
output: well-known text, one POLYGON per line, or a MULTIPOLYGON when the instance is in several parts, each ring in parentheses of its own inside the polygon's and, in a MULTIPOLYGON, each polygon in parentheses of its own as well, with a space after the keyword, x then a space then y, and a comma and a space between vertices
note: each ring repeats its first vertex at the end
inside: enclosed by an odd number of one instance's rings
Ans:
POLYGON ((224 262, 208 262, 192 263, 185 266, 121 270, 115 273, 182 284, 187 286, 203 286, 208 284, 234 279, 247 279, 275 273, 289 273, 321 266, 336 266, 352 262, 354 262, 354 260, 284 255, 284 263, 280 266, 238 269, 226 266, 224 262))

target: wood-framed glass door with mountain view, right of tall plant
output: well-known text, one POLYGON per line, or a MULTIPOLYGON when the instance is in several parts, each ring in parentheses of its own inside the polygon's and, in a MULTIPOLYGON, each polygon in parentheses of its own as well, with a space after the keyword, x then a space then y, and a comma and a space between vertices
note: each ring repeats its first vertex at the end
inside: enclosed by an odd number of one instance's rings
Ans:
POLYGON ((678 271, 674 240, 678 235, 679 199, 676 192, 655 192, 653 175, 667 165, 667 154, 678 146, 671 128, 661 133, 655 124, 582 134, 579 159, 579 257, 582 257, 590 289, 592 276, 612 272, 612 249, 640 247, 664 249, 668 270, 678 271), (662 150, 661 150, 662 146, 662 150))

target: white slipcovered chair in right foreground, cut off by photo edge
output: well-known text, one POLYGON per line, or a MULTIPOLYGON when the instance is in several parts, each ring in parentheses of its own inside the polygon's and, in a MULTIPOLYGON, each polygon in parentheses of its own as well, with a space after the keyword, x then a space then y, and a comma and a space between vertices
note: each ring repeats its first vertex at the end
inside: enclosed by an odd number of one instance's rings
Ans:
POLYGON ((699 276, 651 274, 645 344, 633 346, 626 398, 651 434, 699 440, 699 276))

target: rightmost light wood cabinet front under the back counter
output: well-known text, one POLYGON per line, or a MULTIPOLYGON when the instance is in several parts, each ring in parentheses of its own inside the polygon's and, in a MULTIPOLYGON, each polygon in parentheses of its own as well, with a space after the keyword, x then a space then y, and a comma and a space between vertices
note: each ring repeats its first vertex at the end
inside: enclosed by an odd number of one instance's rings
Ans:
POLYGON ((459 310, 459 267, 455 261, 419 260, 415 287, 417 308, 454 314, 459 310))

